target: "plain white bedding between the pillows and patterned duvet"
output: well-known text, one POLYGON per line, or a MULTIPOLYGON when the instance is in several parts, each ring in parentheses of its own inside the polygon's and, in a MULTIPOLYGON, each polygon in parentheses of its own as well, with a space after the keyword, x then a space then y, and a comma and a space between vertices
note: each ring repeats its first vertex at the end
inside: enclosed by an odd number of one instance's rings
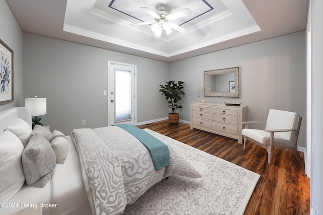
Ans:
POLYGON ((67 138, 69 155, 63 165, 56 165, 50 183, 43 188, 29 187, 25 184, 8 202, 8 206, 13 204, 14 207, 0 208, 1 215, 11 214, 40 201, 56 204, 54 207, 44 207, 44 215, 61 215, 87 203, 78 155, 71 136, 67 138))

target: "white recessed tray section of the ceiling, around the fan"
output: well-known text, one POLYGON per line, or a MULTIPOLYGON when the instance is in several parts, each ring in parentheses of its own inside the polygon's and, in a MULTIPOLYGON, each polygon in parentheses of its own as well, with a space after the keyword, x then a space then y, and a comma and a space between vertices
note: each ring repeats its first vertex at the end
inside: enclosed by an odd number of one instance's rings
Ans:
POLYGON ((223 1, 224 3, 220 0, 161 0, 158 4, 143 0, 87 2, 88 7, 80 7, 78 0, 68 0, 64 31, 164 57, 172 57, 260 30, 240 0, 223 1), (159 4, 166 6, 168 14, 189 8, 191 16, 174 21, 186 28, 188 33, 173 31, 166 35, 163 32, 160 38, 155 38, 150 25, 130 26, 133 23, 153 20, 140 7, 150 8, 158 13, 159 4))

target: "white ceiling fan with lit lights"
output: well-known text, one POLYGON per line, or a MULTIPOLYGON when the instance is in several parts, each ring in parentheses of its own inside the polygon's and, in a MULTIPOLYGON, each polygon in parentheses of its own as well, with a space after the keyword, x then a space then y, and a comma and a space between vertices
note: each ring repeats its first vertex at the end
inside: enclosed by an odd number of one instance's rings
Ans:
POLYGON ((161 32, 163 30, 166 31, 167 35, 172 33, 173 29, 178 32, 181 32, 182 34, 185 34, 188 32, 187 29, 185 29, 173 22, 170 22, 172 20, 190 15, 191 11, 188 8, 184 8, 184 9, 177 11, 177 12, 170 14, 170 15, 167 15, 167 13, 165 12, 165 8, 166 8, 165 5, 158 6, 158 10, 159 10, 158 13, 159 14, 156 14, 155 12, 153 12, 152 10, 150 10, 147 7, 140 7, 140 8, 142 10, 144 10, 146 13, 148 13, 149 15, 151 15, 152 17, 154 17, 154 21, 134 23, 134 24, 131 24, 131 26, 151 24, 151 30, 154 32, 155 37, 160 37, 161 32))

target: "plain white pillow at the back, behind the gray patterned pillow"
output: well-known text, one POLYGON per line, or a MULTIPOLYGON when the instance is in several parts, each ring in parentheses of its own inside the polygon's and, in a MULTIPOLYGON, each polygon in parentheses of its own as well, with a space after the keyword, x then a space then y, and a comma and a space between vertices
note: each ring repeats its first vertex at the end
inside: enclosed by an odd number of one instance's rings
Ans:
POLYGON ((8 127, 6 130, 13 132, 22 141, 24 147, 28 144, 29 136, 32 132, 30 125, 23 119, 17 118, 13 126, 8 127))

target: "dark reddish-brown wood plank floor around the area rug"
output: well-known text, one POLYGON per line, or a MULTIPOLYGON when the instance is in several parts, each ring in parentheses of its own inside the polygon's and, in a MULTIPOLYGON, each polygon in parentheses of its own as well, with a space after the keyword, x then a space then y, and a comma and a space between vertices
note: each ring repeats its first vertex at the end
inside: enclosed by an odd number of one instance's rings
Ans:
POLYGON ((190 130, 189 124, 170 124, 168 120, 138 127, 149 128, 260 174, 245 214, 310 213, 310 180, 305 175, 303 153, 275 147, 272 164, 267 164, 266 150, 249 141, 243 149, 235 139, 190 130))

